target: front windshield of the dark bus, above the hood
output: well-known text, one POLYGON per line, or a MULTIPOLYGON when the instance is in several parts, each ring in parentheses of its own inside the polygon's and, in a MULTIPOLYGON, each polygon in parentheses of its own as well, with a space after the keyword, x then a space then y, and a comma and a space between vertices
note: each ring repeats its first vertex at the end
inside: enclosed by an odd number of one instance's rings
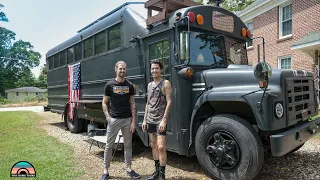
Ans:
MULTIPOLYGON (((186 32, 182 32, 186 33, 186 32)), ((247 64, 244 42, 212 33, 181 34, 181 60, 194 66, 227 67, 229 64, 247 64), (188 44, 190 38, 190 44, 188 44), (190 46, 190 47, 189 47, 190 46), (189 50, 190 49, 190 50, 189 50)))

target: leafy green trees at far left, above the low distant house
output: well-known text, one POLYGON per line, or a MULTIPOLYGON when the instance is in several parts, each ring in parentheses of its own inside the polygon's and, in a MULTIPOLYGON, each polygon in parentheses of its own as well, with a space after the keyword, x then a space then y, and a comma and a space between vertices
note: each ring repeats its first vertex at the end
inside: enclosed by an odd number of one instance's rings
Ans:
POLYGON ((16 34, 0 27, 0 95, 5 90, 34 86, 31 69, 40 63, 41 54, 34 51, 30 42, 15 40, 16 34))

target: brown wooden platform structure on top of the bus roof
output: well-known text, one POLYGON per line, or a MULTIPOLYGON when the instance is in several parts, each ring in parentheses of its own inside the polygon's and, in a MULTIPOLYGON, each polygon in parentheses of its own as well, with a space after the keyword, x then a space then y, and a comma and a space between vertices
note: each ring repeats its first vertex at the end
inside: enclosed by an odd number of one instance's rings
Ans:
POLYGON ((145 4, 145 8, 148 9, 148 18, 146 24, 147 26, 150 26, 155 22, 165 20, 167 15, 173 11, 197 5, 200 4, 191 0, 148 0, 145 4), (152 16, 152 10, 158 11, 159 13, 152 16))

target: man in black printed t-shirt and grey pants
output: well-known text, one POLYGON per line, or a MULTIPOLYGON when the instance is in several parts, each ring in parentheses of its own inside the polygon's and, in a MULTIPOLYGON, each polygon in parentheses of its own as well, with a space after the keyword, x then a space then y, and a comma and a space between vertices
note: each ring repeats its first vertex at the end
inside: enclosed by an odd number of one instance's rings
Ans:
POLYGON ((134 100, 134 85, 125 79, 126 63, 118 61, 115 65, 117 77, 109 81, 104 88, 102 109, 108 121, 107 142, 104 151, 104 173, 100 180, 109 178, 109 167, 112 149, 116 136, 121 129, 124 140, 124 159, 127 175, 138 179, 141 176, 131 169, 132 134, 136 128, 136 104, 134 100), (110 109, 108 107, 111 102, 110 109))

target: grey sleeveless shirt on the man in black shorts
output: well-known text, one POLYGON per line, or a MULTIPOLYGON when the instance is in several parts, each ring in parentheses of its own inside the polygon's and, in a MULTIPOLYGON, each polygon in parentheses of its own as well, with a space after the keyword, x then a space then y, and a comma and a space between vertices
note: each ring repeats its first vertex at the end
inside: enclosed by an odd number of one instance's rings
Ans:
POLYGON ((160 124, 167 106, 167 100, 162 93, 161 88, 164 86, 164 80, 159 84, 148 84, 148 116, 147 123, 160 124))

